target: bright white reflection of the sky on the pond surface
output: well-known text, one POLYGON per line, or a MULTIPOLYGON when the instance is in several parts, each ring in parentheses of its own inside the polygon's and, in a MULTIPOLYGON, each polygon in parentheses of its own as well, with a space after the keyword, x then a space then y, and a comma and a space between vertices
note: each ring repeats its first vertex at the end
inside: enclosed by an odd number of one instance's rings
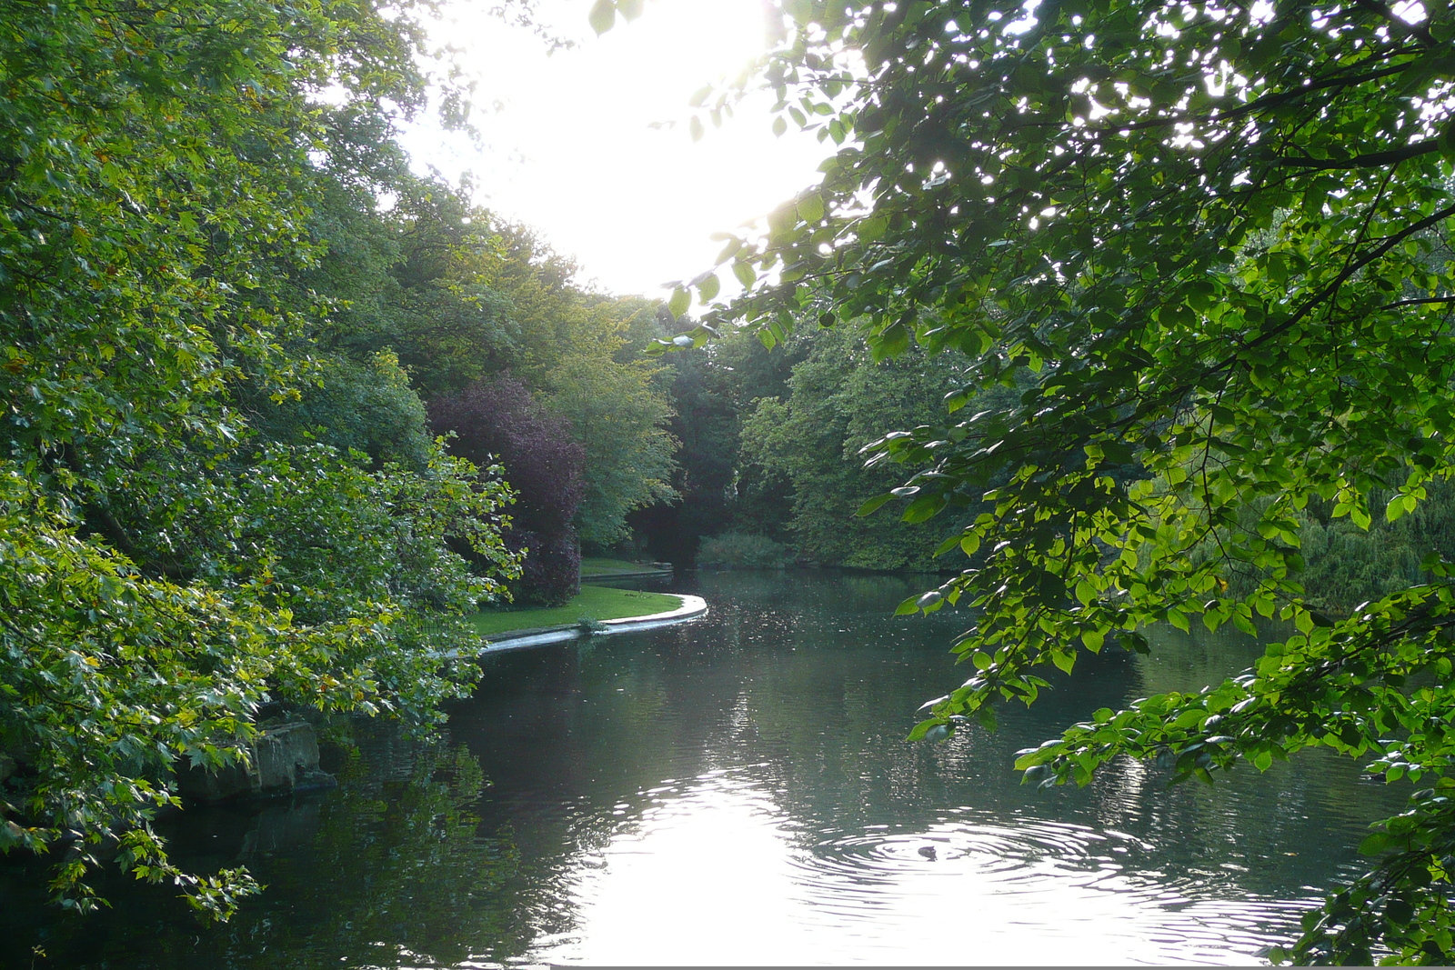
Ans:
POLYGON ((1260 925, 1307 903, 1197 899, 1139 874, 1151 848, 970 809, 918 830, 799 830, 754 778, 714 771, 652 797, 573 859, 575 928, 533 957, 585 964, 1257 963, 1260 925), (934 858, 921 849, 933 846, 934 858), (1129 871, 1131 870, 1131 871, 1129 871))

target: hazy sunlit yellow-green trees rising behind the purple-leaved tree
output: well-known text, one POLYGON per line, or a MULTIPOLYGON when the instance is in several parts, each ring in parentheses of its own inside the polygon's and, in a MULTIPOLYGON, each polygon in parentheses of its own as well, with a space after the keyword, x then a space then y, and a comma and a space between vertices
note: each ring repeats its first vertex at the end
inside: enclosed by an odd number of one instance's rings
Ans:
POLYGON ((582 286, 534 233, 444 186, 415 185, 393 218, 391 233, 361 233, 345 250, 336 275, 356 295, 332 346, 397 352, 426 400, 506 372, 521 381, 585 449, 573 525, 588 545, 624 540, 631 510, 677 497, 671 401, 642 355, 659 336, 655 304, 582 286))

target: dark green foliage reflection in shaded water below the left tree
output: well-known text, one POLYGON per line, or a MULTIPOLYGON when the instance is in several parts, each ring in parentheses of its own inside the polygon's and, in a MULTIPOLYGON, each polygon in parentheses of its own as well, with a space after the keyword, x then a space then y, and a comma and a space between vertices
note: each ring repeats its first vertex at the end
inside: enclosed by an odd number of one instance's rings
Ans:
POLYGON ((45 870, 17 865, 0 875, 0 966, 451 966, 512 939, 496 903, 515 851, 508 832, 480 836, 479 763, 444 742, 359 731, 330 795, 159 825, 185 865, 244 864, 266 884, 230 923, 204 926, 169 889, 121 877, 100 886, 111 909, 60 913, 44 905, 45 870))

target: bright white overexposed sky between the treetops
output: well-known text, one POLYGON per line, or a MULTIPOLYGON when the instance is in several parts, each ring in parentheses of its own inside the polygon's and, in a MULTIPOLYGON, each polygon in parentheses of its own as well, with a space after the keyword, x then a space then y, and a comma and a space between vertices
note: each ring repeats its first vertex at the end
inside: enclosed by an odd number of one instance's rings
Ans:
POLYGON ((709 125, 701 141, 688 135, 693 93, 762 49, 760 0, 653 0, 601 38, 586 23, 589 0, 541 0, 541 19, 579 41, 554 54, 486 6, 454 0, 439 38, 461 48, 477 81, 485 144, 434 122, 413 127, 404 144, 420 172, 473 173, 479 204, 535 227, 576 257, 586 281, 665 295, 661 284, 713 265, 722 243, 711 233, 818 182, 832 143, 792 125, 774 138, 767 97, 741 105, 720 129, 709 125))

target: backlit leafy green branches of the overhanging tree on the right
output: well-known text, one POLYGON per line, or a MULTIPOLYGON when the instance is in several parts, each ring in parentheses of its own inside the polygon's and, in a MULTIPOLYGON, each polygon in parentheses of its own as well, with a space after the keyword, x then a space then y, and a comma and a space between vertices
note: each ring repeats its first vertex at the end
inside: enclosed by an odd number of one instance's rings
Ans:
MULTIPOLYGON (((1451 9, 781 10, 754 77, 780 129, 841 147, 762 234, 728 240, 749 291, 703 318, 770 343, 796 320, 863 318, 879 356, 968 356, 949 414, 879 446, 915 470, 902 518, 989 503, 941 550, 981 560, 904 606, 979 615, 956 647, 973 675, 914 736, 1033 701, 1080 650, 1147 650, 1152 622, 1280 617, 1295 631, 1244 675, 1100 711, 1018 763, 1085 784, 1131 755, 1211 781, 1327 745, 1417 779, 1368 841, 1369 875, 1275 957, 1451 961, 1455 564, 1430 554, 1419 582, 1336 621, 1308 608, 1298 548, 1311 502, 1368 528, 1452 470, 1451 9), (959 413, 1016 380, 1011 406, 959 413)), ((671 308, 717 289, 703 276, 671 308)))

